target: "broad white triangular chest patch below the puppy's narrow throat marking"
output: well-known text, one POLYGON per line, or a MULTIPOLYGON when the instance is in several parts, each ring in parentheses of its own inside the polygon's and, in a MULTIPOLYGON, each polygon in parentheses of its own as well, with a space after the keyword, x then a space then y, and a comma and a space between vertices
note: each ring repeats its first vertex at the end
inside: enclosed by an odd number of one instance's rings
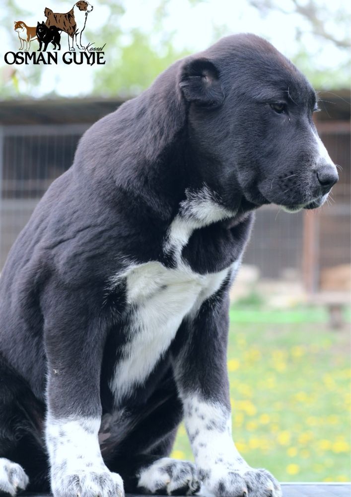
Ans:
POLYGON ((121 359, 110 388, 118 401, 141 384, 168 349, 182 320, 218 290, 229 268, 201 275, 184 264, 167 268, 151 261, 127 270, 126 301, 129 319, 121 359))

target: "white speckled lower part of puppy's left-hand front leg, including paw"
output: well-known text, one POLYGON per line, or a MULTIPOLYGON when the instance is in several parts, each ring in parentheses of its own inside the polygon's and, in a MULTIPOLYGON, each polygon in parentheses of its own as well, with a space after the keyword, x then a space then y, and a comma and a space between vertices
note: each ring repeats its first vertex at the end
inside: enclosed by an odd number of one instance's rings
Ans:
POLYGON ((105 466, 98 442, 100 418, 54 419, 46 425, 54 497, 124 496, 123 481, 105 466))

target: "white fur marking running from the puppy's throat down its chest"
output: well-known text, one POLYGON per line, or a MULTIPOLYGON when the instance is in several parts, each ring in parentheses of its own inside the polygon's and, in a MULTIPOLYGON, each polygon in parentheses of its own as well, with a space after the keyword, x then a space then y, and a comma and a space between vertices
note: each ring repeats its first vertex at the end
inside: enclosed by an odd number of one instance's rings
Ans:
POLYGON ((165 252, 174 251, 176 267, 167 268, 157 261, 133 262, 111 278, 110 289, 127 279, 131 311, 129 342, 122 349, 122 358, 110 381, 116 404, 152 372, 183 319, 193 317, 229 274, 230 268, 218 273, 195 273, 182 260, 181 251, 195 229, 234 215, 219 204, 206 185, 197 192, 187 191, 163 247, 165 252))

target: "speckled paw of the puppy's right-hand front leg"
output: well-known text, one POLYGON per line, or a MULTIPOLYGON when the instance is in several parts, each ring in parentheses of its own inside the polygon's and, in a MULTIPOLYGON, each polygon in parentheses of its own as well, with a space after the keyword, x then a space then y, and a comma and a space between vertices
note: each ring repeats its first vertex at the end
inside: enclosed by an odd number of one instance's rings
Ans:
MULTIPOLYGON (((201 471, 200 471, 201 474, 201 471)), ((203 485, 199 495, 215 497, 281 497, 281 486, 265 469, 229 471, 221 476, 202 475, 203 485)))

